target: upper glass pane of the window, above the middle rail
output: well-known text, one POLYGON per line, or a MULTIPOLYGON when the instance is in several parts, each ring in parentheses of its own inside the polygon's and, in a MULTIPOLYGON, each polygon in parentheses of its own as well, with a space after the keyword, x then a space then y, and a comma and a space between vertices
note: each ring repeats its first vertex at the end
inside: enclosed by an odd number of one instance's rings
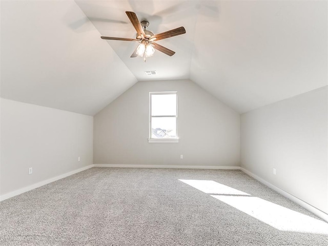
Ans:
POLYGON ((176 115, 176 94, 152 94, 152 115, 176 115))

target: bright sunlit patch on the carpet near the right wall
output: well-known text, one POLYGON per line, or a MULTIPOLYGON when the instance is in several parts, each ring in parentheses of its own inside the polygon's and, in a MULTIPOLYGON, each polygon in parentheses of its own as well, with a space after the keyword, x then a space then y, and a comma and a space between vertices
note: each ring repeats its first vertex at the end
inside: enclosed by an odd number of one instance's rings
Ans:
POLYGON ((179 179, 280 231, 328 235, 328 223, 213 180, 179 179))

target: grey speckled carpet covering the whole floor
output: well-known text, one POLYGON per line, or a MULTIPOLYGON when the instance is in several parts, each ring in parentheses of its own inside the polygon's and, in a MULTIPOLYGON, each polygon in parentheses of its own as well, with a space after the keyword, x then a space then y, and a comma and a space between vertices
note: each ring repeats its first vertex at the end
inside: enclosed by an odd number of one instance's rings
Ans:
POLYGON ((327 246, 327 225, 238 170, 91 168, 0 202, 6 246, 327 246))

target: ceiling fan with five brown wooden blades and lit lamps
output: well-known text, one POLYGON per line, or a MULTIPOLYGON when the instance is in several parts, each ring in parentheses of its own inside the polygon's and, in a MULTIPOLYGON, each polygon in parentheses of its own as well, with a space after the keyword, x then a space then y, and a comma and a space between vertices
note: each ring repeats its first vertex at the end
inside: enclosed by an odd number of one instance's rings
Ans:
POLYGON ((146 30, 149 26, 149 22, 147 20, 143 20, 141 23, 139 22, 137 15, 134 12, 126 11, 133 27, 137 31, 136 38, 124 38, 124 37, 104 37, 103 39, 111 39, 111 40, 124 40, 124 41, 136 41, 140 43, 140 45, 135 49, 132 53, 131 57, 137 57, 138 55, 144 57, 144 61, 146 62, 146 57, 152 56, 155 52, 155 49, 163 52, 169 56, 175 54, 174 51, 169 50, 159 44, 154 43, 155 40, 165 39, 168 37, 173 37, 177 35, 181 35, 186 33, 186 29, 184 27, 178 27, 172 29, 170 31, 162 32, 159 34, 152 33, 151 31, 146 30))

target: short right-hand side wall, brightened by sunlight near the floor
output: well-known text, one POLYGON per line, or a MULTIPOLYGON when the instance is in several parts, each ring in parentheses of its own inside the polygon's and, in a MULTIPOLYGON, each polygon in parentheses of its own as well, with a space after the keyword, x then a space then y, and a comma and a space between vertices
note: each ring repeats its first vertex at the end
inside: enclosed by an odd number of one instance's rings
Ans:
POLYGON ((241 167, 325 213, 327 99, 322 87, 241 115, 241 167))

